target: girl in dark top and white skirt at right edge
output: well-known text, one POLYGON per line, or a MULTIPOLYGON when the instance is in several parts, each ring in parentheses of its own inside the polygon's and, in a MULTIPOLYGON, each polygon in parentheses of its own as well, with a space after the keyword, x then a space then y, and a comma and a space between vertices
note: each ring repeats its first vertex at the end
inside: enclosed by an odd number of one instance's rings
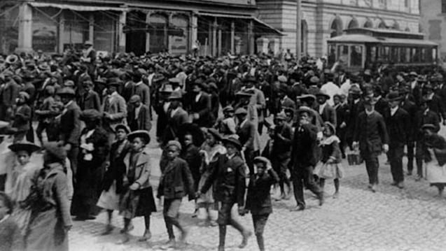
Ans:
POLYGON ((438 196, 442 196, 446 186, 446 140, 435 132, 433 124, 424 124, 426 152, 426 178, 431 186, 438 188, 438 196))

